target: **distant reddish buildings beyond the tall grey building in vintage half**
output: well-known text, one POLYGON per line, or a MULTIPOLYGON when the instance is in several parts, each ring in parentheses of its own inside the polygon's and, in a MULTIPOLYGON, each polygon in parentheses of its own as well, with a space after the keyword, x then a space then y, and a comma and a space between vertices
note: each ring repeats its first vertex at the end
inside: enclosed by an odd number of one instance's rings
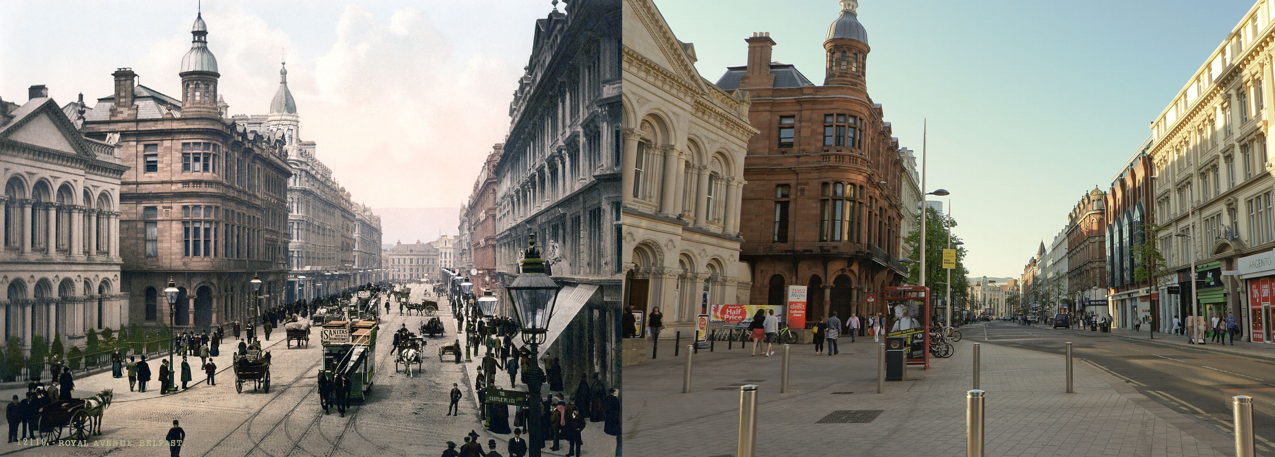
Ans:
POLYGON ((500 162, 504 144, 491 148, 483 162, 478 178, 474 179, 469 201, 460 207, 460 239, 456 242, 456 269, 468 275, 477 294, 492 290, 496 285, 496 163, 500 162))

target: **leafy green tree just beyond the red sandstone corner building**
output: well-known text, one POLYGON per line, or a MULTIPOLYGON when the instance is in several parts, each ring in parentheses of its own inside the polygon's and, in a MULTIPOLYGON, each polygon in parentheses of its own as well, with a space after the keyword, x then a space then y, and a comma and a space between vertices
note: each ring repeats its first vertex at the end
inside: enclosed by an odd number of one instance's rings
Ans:
MULTIPOLYGON (((938 213, 933 207, 926 206, 926 285, 931 289, 931 295, 935 298, 945 297, 947 285, 947 271, 943 269, 943 250, 947 247, 947 230, 951 227, 956 227, 956 219, 946 214, 938 213)), ((914 260, 919 260, 921 256, 921 215, 915 215, 915 223, 918 230, 908 234, 904 243, 912 250, 914 260)), ((952 233, 952 247, 956 248, 956 267, 951 271, 951 292, 952 303, 969 303, 969 270, 965 269, 965 248, 956 246, 955 243, 960 241, 955 233, 952 233)), ((908 281, 912 284, 921 284, 921 264, 912 264, 908 267, 908 281)))

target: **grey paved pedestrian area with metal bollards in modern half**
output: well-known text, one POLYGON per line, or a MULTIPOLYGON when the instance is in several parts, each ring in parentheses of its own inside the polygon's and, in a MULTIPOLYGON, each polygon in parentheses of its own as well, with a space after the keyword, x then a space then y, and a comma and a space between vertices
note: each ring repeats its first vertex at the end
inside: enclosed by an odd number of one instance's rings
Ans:
MULTIPOLYGON (((681 393, 682 359, 668 354, 625 368, 625 440, 631 456, 734 454, 738 387, 760 386, 759 456, 964 456, 970 341, 929 370, 876 393, 876 348, 859 339, 836 356, 794 345, 790 393, 779 393, 780 358, 750 356, 738 346, 700 350, 691 393, 681 393), (720 390, 719 390, 720 388, 720 390), (853 392, 836 393, 834 392, 853 392), (867 424, 816 424, 839 410, 881 410, 867 424), (880 437, 880 438, 877 438, 880 437)), ((664 348, 662 348, 664 349, 664 348)), ((1088 363, 1076 362, 1076 393, 1065 393, 1058 355, 982 346, 988 391, 988 456, 1218 456, 1230 438, 1137 393, 1088 363), (1063 432, 1066 430, 1066 432, 1063 432)))

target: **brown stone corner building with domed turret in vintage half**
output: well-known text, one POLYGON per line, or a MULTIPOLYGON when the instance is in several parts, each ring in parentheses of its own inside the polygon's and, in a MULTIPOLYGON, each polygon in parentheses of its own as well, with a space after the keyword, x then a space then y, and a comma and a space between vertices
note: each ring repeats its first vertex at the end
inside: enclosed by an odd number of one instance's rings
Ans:
POLYGON ((204 330, 255 316, 254 275, 264 283, 261 308, 282 303, 291 172, 286 135, 226 117, 201 17, 191 34, 177 97, 120 69, 115 94, 84 115, 83 130, 116 145, 130 167, 119 199, 124 320, 204 330), (162 293, 170 278, 181 290, 172 321, 162 293))

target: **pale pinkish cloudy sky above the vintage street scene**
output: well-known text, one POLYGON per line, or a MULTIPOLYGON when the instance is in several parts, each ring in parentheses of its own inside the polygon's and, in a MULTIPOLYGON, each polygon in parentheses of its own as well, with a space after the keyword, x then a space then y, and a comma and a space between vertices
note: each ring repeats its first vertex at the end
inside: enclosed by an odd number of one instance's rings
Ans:
MULTIPOLYGON (((550 0, 203 3, 232 115, 265 115, 287 59, 301 136, 354 200, 460 206, 550 0)), ((112 94, 111 73, 180 95, 196 1, 0 0, 0 98, 45 84, 59 104, 112 94)))

